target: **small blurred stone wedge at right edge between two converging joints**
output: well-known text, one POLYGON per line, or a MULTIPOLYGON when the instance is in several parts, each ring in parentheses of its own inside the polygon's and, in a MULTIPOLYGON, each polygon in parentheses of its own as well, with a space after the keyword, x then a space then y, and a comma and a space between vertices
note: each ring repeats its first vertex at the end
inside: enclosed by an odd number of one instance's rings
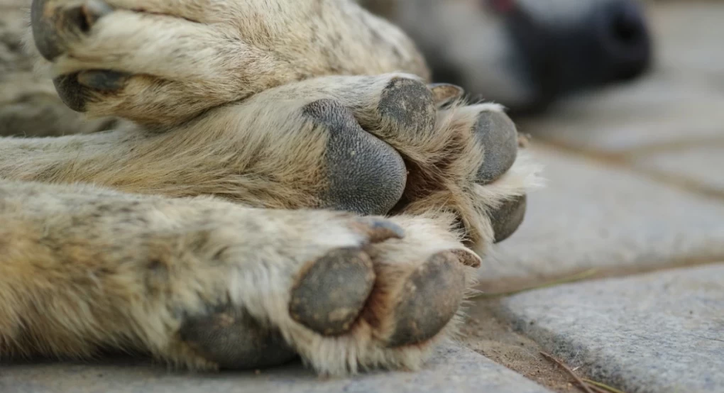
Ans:
MULTIPOLYGON (((724 124, 722 124, 724 130, 724 124)), ((724 140, 703 145, 641 156, 637 166, 724 191, 724 140)))

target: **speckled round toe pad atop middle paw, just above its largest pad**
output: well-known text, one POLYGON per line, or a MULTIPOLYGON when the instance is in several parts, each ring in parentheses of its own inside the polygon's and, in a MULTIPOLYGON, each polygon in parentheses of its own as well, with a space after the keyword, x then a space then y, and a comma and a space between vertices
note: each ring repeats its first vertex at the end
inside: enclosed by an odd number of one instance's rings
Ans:
POLYGON ((437 107, 432 91, 424 83, 407 78, 390 80, 382 90, 379 114, 392 121, 400 132, 425 135, 432 131, 437 107))

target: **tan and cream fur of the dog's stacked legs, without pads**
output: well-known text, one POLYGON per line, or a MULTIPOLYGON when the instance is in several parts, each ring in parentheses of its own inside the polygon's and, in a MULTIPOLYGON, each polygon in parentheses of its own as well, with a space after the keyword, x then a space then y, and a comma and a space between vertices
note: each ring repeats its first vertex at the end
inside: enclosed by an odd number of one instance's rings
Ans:
POLYGON ((51 69, 129 72, 87 109, 137 123, 0 139, 0 356, 111 346, 215 368, 178 331, 185 316, 227 302, 320 373, 418 368, 455 319, 426 342, 387 347, 400 286, 436 253, 484 255, 488 212, 537 182, 523 155, 496 182, 473 182, 485 147, 472 124, 500 106, 452 105, 429 135, 385 122, 383 88, 424 80, 426 69, 399 30, 351 1, 108 2, 117 10, 69 38, 51 69), (319 99, 341 103, 405 158, 408 203, 390 217, 403 239, 374 242, 352 214, 288 210, 326 207, 315 195, 327 187, 329 135, 303 117, 319 99), (290 288, 306 263, 345 247, 371 258, 374 302, 348 333, 322 336, 291 318, 290 288))

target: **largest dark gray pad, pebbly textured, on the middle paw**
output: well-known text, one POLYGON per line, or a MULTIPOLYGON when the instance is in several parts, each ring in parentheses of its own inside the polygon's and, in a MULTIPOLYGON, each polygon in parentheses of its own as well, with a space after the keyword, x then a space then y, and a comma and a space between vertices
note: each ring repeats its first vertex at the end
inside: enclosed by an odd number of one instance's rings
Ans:
POLYGON ((303 113, 327 129, 327 192, 323 208, 362 215, 387 214, 403 195, 407 169, 390 145, 362 130, 341 103, 324 99, 309 103, 303 113))

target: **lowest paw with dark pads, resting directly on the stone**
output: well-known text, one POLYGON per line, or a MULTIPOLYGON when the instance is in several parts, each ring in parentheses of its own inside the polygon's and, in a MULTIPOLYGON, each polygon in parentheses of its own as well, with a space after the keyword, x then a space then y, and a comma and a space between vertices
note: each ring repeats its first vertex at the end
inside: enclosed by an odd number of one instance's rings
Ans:
MULTIPOLYGON (((172 287, 180 320, 161 357, 259 368, 299 354, 337 375, 413 369, 455 329, 468 266, 479 258, 448 231, 450 222, 263 215, 269 227, 256 233, 221 227, 195 245, 200 264, 172 287)), ((147 318, 140 324, 153 326, 156 317, 147 318)))

